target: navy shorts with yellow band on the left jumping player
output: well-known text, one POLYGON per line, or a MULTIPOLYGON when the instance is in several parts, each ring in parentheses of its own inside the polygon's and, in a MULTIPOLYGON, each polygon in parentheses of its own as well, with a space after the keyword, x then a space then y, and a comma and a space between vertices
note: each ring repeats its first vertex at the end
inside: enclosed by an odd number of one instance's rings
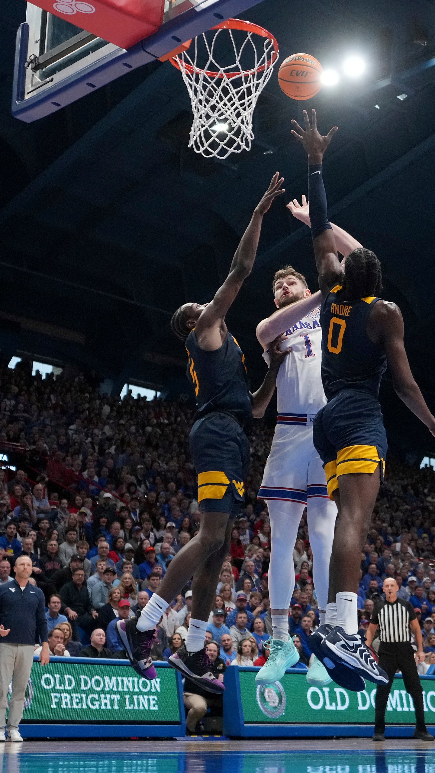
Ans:
POLYGON ((195 421, 190 454, 198 475, 200 512, 228 512, 236 518, 245 499, 250 445, 238 421, 213 411, 195 421))

